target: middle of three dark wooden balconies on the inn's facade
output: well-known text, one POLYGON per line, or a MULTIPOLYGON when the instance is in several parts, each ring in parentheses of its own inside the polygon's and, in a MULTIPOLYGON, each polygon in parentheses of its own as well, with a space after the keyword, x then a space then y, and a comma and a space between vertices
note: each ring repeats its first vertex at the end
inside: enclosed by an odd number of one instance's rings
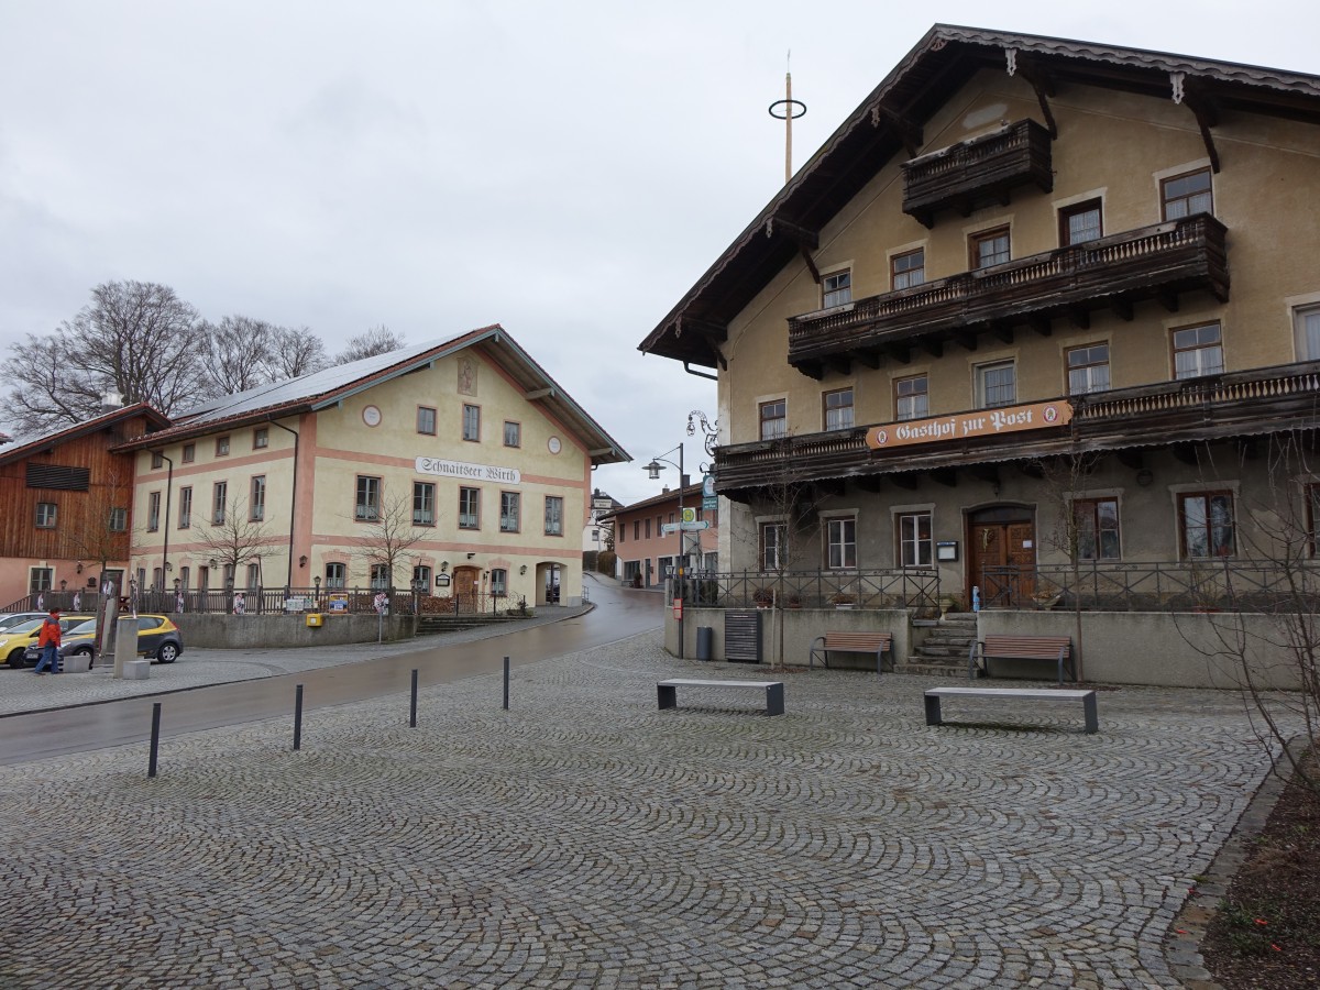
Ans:
POLYGON ((912 347, 935 356, 949 342, 975 350, 987 331, 1011 341, 1019 325, 1047 335, 1057 318, 1086 327, 1102 308, 1131 319, 1134 304, 1159 298, 1173 310, 1179 294, 1197 289, 1226 302, 1226 234, 1196 214, 791 317, 788 363, 820 379, 826 367, 850 374, 853 360, 906 363, 912 347))

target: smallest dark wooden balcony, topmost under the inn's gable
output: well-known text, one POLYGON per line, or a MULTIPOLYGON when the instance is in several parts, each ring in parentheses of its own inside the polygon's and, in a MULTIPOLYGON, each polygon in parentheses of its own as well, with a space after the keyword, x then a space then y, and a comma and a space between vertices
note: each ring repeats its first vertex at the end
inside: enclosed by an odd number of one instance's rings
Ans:
POLYGON ((933 227, 940 210, 968 216, 978 203, 1007 203, 1014 189, 1028 185, 1041 193, 1055 187, 1051 139, 1035 120, 1019 120, 903 162, 903 213, 933 227))

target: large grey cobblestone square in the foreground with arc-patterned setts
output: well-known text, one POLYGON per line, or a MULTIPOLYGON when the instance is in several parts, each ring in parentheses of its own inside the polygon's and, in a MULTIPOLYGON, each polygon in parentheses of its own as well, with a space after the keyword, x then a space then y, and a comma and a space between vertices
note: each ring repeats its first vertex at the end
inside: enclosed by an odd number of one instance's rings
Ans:
POLYGON ((659 634, 499 676, 0 768, 5 987, 1166 987, 1266 772, 1233 693, 1081 706, 784 675, 659 634), (718 673, 717 673, 718 672, 718 673), (698 676, 700 676, 698 675, 698 676))

